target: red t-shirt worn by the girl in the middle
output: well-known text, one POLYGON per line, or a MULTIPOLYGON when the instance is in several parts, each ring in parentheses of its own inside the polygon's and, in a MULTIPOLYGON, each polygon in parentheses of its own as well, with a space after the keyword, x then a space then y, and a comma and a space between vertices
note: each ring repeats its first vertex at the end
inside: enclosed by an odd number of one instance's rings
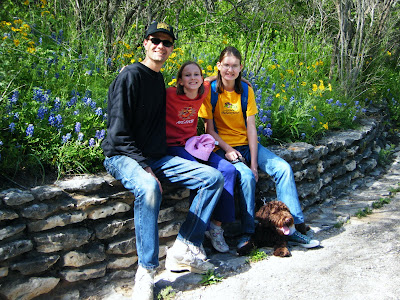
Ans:
POLYGON ((187 139, 197 135, 197 114, 210 90, 210 83, 204 81, 204 93, 195 99, 177 95, 176 87, 167 89, 167 145, 184 146, 187 139))

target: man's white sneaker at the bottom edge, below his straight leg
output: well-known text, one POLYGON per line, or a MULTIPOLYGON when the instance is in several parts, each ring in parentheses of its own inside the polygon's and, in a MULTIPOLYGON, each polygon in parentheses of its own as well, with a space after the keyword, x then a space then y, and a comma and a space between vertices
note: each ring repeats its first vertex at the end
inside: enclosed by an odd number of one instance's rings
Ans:
POLYGON ((135 275, 135 286, 133 288, 133 299, 153 300, 154 299, 154 274, 155 270, 147 270, 138 267, 135 275))

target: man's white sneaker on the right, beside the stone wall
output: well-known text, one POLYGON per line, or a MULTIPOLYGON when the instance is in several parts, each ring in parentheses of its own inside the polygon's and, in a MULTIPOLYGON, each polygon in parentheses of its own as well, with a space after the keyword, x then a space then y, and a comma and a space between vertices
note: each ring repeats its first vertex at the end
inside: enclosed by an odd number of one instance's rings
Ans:
POLYGON ((185 247, 174 244, 168 249, 165 268, 172 272, 189 271, 197 274, 206 274, 207 271, 215 269, 212 263, 198 258, 186 244, 185 247))

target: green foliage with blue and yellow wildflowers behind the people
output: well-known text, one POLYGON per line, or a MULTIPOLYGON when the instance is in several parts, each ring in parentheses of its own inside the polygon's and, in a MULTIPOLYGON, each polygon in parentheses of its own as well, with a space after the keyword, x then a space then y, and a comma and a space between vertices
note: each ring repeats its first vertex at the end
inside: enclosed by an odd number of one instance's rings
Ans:
POLYGON ((124 65, 144 58, 153 20, 172 24, 178 36, 162 69, 167 87, 186 60, 209 76, 224 47, 241 51, 264 145, 315 143, 328 130, 357 127, 369 106, 388 114, 393 130, 400 122, 395 0, 0 6, 0 170, 8 179, 103 170, 108 86, 124 65))

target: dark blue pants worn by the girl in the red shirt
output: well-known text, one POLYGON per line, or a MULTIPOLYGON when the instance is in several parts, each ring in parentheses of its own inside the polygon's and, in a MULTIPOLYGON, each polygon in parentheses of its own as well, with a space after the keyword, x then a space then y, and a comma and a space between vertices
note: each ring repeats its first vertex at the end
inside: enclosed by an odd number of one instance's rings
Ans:
MULTIPOLYGON (((197 161, 183 146, 168 147, 169 155, 176 155, 188 160, 197 161)), ((226 159, 211 152, 208 161, 200 161, 209 165, 221 172, 224 176, 224 189, 217 205, 214 208, 212 218, 222 223, 230 223, 235 221, 235 183, 236 183, 236 168, 226 159)), ((194 191, 191 192, 193 198, 194 191)))

